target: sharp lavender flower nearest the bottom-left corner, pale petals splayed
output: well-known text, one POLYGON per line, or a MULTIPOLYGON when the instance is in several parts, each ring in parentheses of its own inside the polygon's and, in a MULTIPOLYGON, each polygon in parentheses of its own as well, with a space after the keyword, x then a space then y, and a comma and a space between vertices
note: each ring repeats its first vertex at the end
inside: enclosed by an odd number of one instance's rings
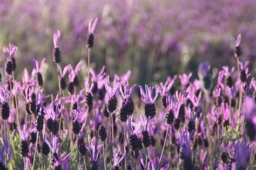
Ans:
POLYGON ((30 136, 30 133, 35 131, 35 129, 28 128, 28 124, 24 124, 22 126, 22 129, 17 127, 19 136, 21 137, 21 154, 22 157, 27 157, 29 154, 29 143, 28 138, 30 136))

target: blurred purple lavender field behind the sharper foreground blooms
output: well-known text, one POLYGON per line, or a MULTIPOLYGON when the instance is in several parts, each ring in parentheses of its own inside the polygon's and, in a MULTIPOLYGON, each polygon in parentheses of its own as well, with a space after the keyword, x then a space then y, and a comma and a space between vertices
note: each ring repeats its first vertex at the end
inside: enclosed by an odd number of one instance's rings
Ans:
MULTIPOLYGON (((218 69, 237 66, 233 49, 241 33, 240 60, 250 61, 255 76, 255 11, 255 0, 0 0, 0 55, 9 43, 18 46, 19 80, 24 67, 32 71, 33 58, 45 57, 44 88, 51 93, 58 87, 52 81, 57 78, 53 32, 61 32, 62 67, 69 63, 75 67, 87 59, 88 23, 98 17, 91 58, 97 71, 103 65, 111 75, 130 69, 132 82, 151 85, 165 81, 167 75, 193 72, 197 76, 202 61, 218 69)), ((80 77, 85 75, 84 67, 80 77)))

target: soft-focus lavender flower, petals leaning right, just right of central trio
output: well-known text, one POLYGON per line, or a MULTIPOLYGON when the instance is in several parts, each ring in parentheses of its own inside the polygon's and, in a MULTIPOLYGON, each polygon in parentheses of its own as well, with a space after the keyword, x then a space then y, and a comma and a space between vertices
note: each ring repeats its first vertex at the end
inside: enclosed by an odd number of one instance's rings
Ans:
POLYGON ((173 79, 171 79, 171 76, 168 76, 165 84, 160 82, 159 89, 160 89, 160 95, 162 97, 163 108, 166 108, 166 94, 170 92, 176 78, 177 76, 174 76, 173 79))

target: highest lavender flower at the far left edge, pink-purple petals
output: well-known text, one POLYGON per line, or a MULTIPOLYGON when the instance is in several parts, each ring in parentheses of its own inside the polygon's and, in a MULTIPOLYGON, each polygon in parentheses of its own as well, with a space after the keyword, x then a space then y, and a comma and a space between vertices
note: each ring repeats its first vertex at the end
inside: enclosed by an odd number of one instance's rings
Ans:
POLYGON ((16 47, 13 44, 9 44, 8 47, 3 48, 4 55, 7 59, 6 65, 5 65, 5 71, 7 74, 11 75, 12 72, 16 69, 16 61, 14 59, 14 54, 18 50, 18 47, 16 47), (9 53, 9 56, 7 55, 7 52, 9 53))

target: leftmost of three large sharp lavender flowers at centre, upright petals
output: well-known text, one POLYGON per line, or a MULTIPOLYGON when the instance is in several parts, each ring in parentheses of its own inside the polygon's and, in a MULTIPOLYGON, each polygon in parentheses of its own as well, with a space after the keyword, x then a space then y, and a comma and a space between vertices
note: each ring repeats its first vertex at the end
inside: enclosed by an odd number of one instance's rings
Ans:
POLYGON ((117 81, 117 76, 114 76, 113 88, 110 86, 109 76, 104 82, 107 95, 109 99, 107 100, 107 111, 113 113, 117 109, 117 93, 119 92, 120 82, 117 81))

